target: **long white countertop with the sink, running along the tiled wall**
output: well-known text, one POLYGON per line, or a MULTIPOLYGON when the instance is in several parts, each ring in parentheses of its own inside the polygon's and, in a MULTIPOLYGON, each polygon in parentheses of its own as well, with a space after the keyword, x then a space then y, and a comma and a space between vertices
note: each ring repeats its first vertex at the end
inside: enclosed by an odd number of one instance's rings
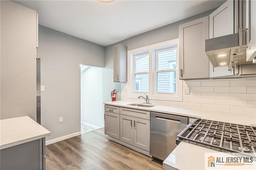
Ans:
POLYGON ((156 105, 154 107, 138 107, 127 105, 129 103, 134 103, 132 101, 113 101, 105 102, 107 105, 114 105, 120 107, 128 107, 133 109, 155 111, 160 113, 174 114, 186 117, 202 118, 214 121, 222 121, 228 123, 236 123, 240 125, 250 125, 256 124, 256 114, 248 113, 232 113, 232 112, 222 112, 222 111, 212 111, 206 109, 194 109, 185 107, 172 107, 172 106, 161 106, 156 105))

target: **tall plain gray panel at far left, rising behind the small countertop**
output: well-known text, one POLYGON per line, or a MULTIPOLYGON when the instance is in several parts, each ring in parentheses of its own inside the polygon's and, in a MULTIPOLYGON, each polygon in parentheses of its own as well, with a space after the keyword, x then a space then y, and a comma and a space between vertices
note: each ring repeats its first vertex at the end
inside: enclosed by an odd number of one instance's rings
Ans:
POLYGON ((1 1, 0 119, 36 120, 36 11, 1 1))

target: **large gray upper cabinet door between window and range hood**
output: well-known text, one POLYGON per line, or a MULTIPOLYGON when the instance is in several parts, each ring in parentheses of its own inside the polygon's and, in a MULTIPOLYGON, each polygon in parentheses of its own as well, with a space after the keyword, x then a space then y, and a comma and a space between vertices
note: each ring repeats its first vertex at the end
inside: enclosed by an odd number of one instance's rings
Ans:
POLYGON ((209 38, 209 17, 179 26, 180 79, 209 78, 205 40, 209 38))

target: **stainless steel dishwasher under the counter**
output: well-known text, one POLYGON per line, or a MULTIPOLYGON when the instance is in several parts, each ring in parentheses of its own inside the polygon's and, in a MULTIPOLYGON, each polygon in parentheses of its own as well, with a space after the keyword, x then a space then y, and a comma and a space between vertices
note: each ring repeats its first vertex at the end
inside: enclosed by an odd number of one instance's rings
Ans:
POLYGON ((188 125, 188 117, 150 113, 150 149, 153 159, 165 160, 176 147, 177 135, 188 125))

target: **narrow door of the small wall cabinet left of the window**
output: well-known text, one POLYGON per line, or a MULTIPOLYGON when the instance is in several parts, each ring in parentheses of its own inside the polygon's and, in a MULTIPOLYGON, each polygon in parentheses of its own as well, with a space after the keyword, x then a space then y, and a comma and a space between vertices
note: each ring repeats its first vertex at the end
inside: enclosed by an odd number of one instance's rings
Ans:
POLYGON ((114 45, 114 82, 120 81, 120 44, 114 45))

